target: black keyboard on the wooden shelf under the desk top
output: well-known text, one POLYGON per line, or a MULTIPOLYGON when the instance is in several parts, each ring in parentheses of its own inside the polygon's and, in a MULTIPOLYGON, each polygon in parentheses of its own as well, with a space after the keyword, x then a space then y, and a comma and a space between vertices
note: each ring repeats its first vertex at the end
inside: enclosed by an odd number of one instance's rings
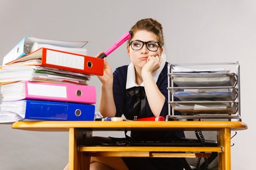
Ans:
MULTIPOLYGON (((89 146, 141 146, 141 147, 202 147, 202 142, 197 139, 180 138, 176 141, 111 141, 91 143, 89 146)), ((216 147, 215 140, 205 140, 205 147, 216 147)))

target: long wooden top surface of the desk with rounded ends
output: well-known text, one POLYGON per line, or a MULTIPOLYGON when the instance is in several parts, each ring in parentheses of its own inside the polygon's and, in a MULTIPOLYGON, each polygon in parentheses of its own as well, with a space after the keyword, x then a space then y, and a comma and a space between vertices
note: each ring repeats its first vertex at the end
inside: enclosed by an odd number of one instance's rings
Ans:
POLYGON ((120 131, 130 129, 181 129, 181 130, 245 130, 247 125, 243 122, 225 121, 41 121, 41 122, 15 122, 12 128, 32 131, 68 131, 69 128, 87 128, 96 131, 120 131))

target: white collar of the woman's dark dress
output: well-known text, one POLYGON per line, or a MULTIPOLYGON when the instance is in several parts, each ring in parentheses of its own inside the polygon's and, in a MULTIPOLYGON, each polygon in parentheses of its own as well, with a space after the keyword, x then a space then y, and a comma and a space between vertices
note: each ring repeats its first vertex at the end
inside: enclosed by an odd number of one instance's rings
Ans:
MULTIPOLYGON (((162 54, 161 57, 162 57, 162 63, 161 63, 160 68, 152 73, 152 76, 153 76, 153 79, 155 80, 155 82, 157 82, 159 74, 161 73, 162 69, 165 67, 166 55, 162 54)), ((127 70, 126 89, 129 89, 129 88, 132 88, 132 87, 137 87, 137 86, 143 86, 144 87, 144 83, 142 82, 141 85, 137 85, 136 80, 135 80, 135 68, 134 68, 133 63, 131 62, 129 64, 128 70, 127 70)))

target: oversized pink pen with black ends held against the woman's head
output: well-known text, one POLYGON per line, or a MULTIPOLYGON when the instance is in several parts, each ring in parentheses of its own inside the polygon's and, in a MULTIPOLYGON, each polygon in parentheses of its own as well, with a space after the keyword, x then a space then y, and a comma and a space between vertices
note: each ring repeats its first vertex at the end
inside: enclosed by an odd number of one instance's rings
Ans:
POLYGON ((117 42, 115 42, 109 49, 104 51, 98 58, 107 57, 113 50, 117 49, 120 45, 122 45, 126 40, 128 40, 132 35, 132 31, 124 33, 117 42))

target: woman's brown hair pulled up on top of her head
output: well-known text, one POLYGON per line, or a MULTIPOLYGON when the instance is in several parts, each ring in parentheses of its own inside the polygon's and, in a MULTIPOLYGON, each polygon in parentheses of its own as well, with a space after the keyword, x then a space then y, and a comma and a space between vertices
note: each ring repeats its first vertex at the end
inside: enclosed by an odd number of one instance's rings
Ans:
POLYGON ((138 30, 146 30, 149 32, 152 32, 156 35, 157 41, 161 44, 164 45, 164 34, 162 33, 162 25, 152 19, 152 18, 145 18, 142 20, 139 20, 133 25, 130 31, 132 31, 132 37, 127 41, 127 44, 132 40, 133 35, 136 33, 138 30))

